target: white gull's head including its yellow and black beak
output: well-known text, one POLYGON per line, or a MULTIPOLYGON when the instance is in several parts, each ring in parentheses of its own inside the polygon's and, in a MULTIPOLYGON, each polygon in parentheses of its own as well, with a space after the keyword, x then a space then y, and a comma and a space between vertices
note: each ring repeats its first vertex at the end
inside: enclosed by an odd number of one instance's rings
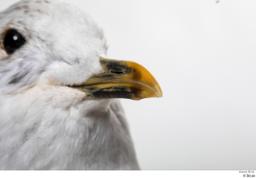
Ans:
POLYGON ((62 105, 162 97, 142 65, 106 58, 102 29, 74 6, 18 2, 0 13, 0 39, 2 94, 58 97, 62 105))

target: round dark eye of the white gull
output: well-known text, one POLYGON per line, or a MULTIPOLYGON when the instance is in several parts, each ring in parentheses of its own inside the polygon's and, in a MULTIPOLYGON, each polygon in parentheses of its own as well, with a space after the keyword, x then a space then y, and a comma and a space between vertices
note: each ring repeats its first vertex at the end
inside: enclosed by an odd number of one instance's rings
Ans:
POLYGON ((25 38, 17 30, 7 30, 3 39, 3 46, 6 49, 6 53, 11 54, 24 45, 25 42, 25 38))

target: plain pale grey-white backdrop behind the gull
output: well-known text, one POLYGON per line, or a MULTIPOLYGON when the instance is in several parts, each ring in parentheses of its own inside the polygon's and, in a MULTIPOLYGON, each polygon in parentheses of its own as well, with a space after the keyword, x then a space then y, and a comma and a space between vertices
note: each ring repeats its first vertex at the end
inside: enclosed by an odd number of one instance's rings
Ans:
MULTIPOLYGON (((0 10, 17 0, 1 0, 0 10)), ((142 169, 256 169, 256 1, 62 0, 163 97, 122 100, 142 169)))

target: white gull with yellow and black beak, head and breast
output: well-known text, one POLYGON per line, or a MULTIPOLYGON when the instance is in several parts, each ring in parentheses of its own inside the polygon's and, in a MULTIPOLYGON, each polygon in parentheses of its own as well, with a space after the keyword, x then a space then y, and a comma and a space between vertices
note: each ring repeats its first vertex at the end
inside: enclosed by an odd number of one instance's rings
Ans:
POLYGON ((23 0, 0 13, 0 169, 139 169, 122 105, 162 97, 150 72, 106 58, 77 7, 23 0))

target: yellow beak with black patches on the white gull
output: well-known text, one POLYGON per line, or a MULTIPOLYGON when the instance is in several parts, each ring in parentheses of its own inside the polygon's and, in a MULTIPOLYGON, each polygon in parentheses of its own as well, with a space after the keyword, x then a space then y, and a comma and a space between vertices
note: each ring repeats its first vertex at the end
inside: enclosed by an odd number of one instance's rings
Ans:
POLYGON ((103 73, 90 77, 81 85, 70 86, 86 93, 86 99, 126 98, 135 101, 162 97, 162 89, 153 75, 133 61, 100 57, 103 73))

